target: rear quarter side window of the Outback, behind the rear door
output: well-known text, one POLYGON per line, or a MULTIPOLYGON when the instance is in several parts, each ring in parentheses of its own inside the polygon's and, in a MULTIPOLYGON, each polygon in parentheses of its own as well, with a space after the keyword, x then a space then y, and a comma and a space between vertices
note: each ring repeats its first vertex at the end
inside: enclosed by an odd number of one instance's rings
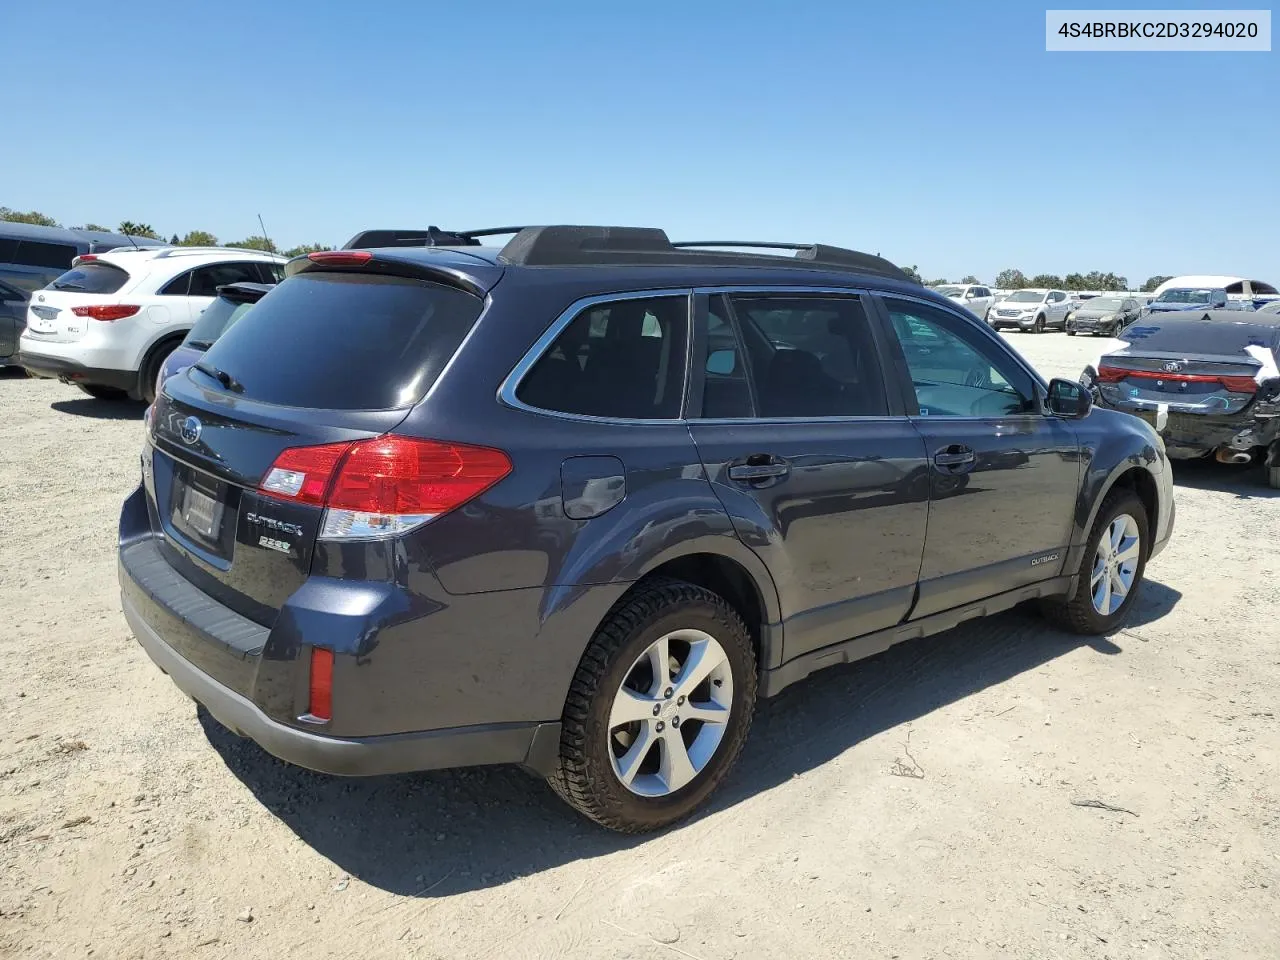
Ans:
POLYGON ((530 407, 617 420, 676 420, 685 392, 689 297, 585 307, 516 389, 530 407))

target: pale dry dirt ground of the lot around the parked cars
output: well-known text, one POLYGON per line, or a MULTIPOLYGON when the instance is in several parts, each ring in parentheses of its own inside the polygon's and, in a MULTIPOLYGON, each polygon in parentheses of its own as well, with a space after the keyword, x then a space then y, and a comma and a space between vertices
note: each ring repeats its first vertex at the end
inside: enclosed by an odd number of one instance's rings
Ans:
POLYGON ((141 412, 0 372, 0 956, 1280 956, 1257 470, 1178 467, 1115 636, 1012 612, 815 675, 703 815, 622 838, 515 769, 329 778, 197 716, 119 609, 141 412))

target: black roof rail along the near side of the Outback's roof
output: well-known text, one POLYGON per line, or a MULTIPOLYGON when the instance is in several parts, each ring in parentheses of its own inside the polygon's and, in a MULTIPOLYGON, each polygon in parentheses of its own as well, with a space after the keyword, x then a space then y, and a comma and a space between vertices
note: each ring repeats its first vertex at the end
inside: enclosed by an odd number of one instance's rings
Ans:
POLYGON ((672 243, 664 230, 639 227, 526 227, 507 242, 499 259, 522 266, 579 264, 772 265, 810 270, 847 270, 914 283, 906 273, 883 257, 856 250, 832 247, 826 243, 776 243, 768 241, 684 241, 672 243), (795 256, 704 250, 708 247, 792 250, 795 256))

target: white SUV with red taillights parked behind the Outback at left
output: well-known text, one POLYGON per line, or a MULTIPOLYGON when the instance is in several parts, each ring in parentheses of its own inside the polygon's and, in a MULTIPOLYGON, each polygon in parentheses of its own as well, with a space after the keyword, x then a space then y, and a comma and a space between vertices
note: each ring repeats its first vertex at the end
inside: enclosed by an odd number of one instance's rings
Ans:
POLYGON ((18 362, 91 397, 155 399, 156 374, 225 283, 278 283, 287 260, 227 247, 116 248, 76 257, 31 296, 18 362))

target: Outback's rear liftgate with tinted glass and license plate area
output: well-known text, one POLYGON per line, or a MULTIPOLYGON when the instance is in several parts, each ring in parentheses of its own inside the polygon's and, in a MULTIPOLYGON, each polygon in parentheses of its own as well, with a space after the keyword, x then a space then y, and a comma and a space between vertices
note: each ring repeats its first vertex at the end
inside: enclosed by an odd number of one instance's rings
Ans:
POLYGON ((143 472, 165 558, 264 626, 307 577, 344 444, 394 430, 484 306, 422 271, 332 262, 294 266, 150 412, 143 472))

